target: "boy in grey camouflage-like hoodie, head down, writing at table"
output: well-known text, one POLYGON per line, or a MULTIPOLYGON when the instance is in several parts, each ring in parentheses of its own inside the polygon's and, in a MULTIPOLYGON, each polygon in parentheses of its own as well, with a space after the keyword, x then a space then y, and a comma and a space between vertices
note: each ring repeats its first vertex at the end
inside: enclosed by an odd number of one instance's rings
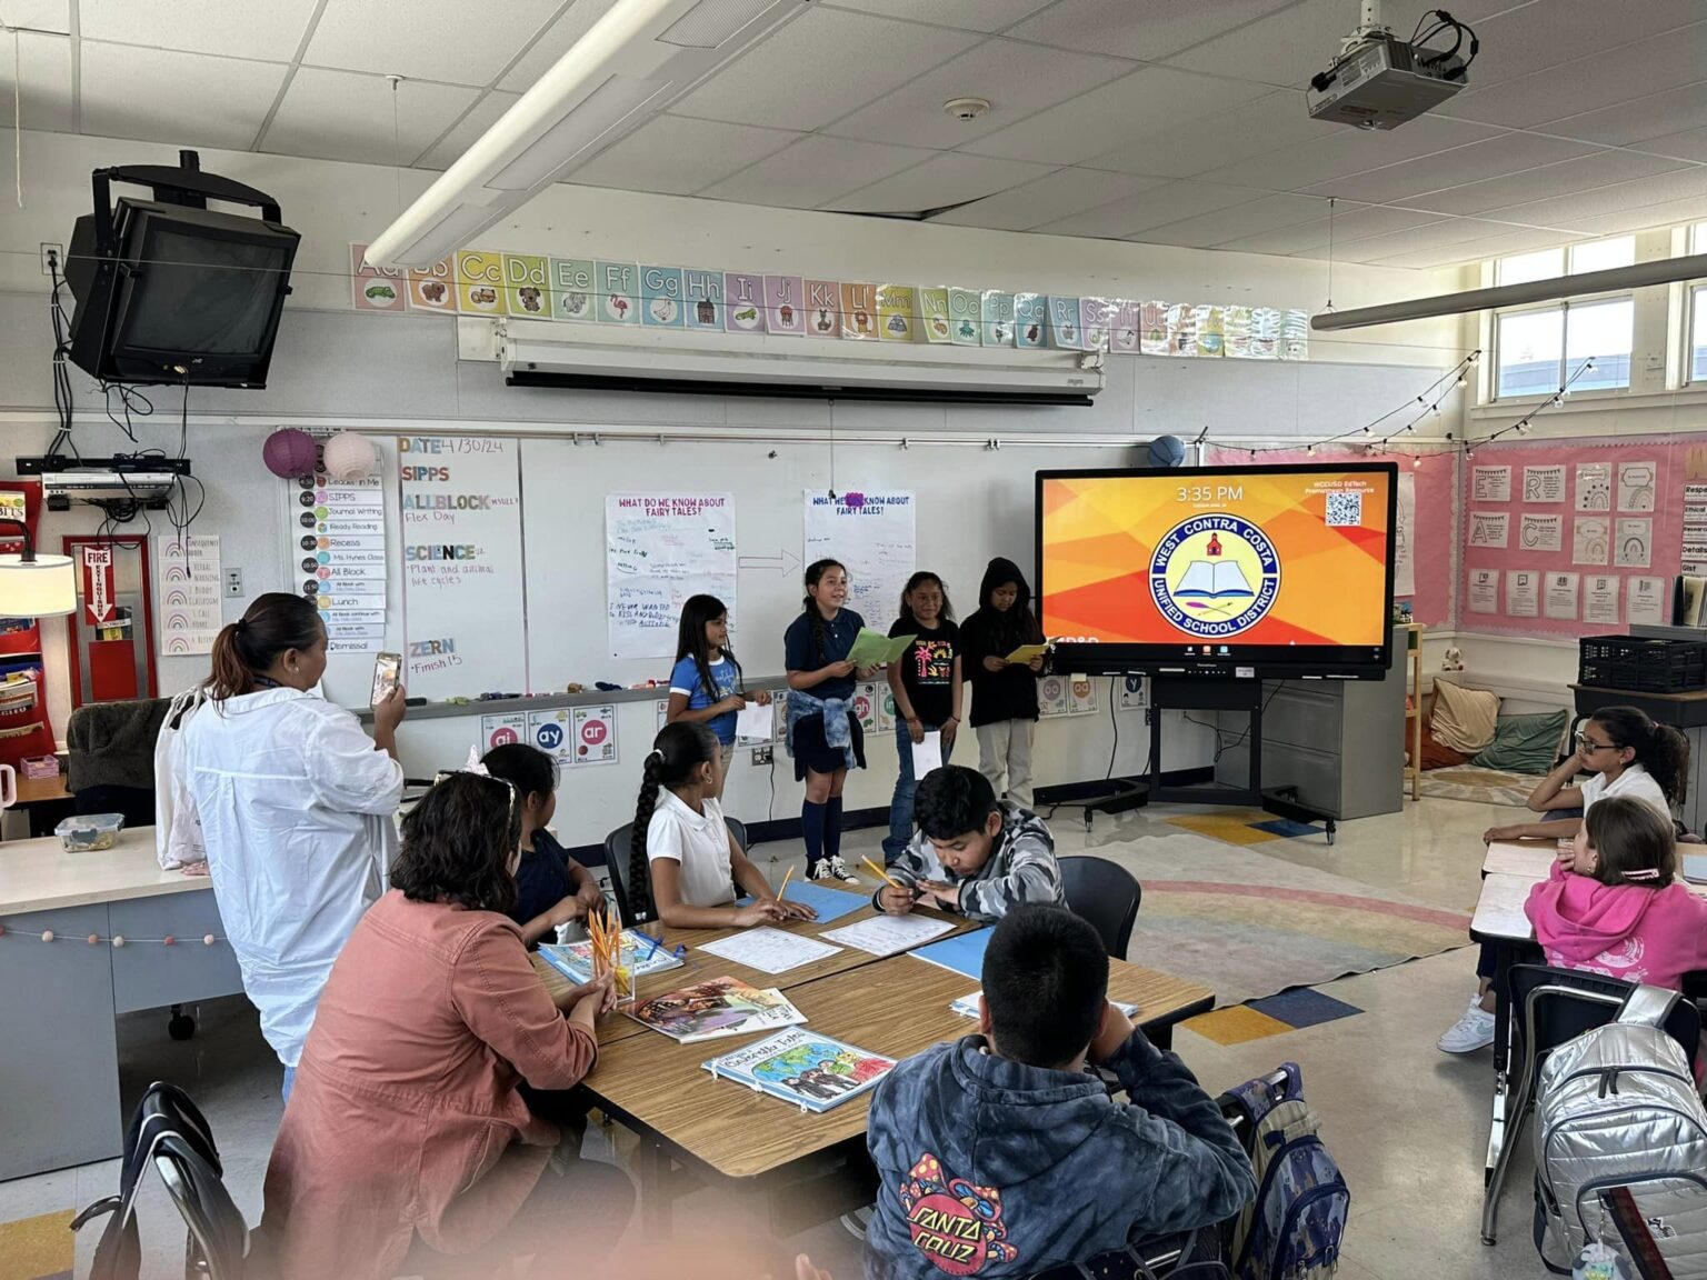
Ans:
POLYGON ((1055 840, 1043 819, 1009 800, 963 765, 944 765, 918 783, 918 835, 888 869, 872 906, 905 915, 915 905, 1000 920, 1021 903, 1065 905, 1055 840))

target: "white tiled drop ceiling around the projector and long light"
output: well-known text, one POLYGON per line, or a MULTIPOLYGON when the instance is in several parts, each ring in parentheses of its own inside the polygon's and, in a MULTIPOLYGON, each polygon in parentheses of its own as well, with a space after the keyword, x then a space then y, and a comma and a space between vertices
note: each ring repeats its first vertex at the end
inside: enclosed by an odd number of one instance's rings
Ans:
MULTIPOLYGON (((26 128, 434 169, 611 3, 0 0, 0 20, 27 27, 26 128)), ((586 179, 1311 258, 1331 196, 1337 254, 1417 266, 1707 217, 1702 0, 1620 7, 1615 34, 1605 0, 1459 0, 1473 87, 1374 137, 1308 121, 1297 89, 1354 10, 819 0, 586 179), (993 104, 968 128, 941 113, 963 94, 993 104)))

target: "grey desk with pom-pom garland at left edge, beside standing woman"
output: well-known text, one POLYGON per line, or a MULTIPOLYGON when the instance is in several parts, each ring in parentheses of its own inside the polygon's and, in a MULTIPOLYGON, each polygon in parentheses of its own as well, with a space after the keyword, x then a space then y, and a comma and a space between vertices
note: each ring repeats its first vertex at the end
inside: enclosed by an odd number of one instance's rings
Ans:
POLYGON ((210 881, 160 870, 152 826, 99 853, 19 840, 0 928, 0 1181, 119 1155, 116 1015, 242 992, 210 881))

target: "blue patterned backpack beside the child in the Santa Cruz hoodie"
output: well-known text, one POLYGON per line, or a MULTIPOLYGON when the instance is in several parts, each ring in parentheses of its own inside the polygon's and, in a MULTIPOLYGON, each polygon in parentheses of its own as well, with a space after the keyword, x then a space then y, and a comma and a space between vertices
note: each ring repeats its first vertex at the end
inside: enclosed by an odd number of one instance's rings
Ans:
POLYGON ((1304 1103, 1296 1062, 1221 1099, 1256 1171, 1256 1200, 1232 1232, 1238 1280, 1326 1280, 1340 1263, 1352 1195, 1304 1103))

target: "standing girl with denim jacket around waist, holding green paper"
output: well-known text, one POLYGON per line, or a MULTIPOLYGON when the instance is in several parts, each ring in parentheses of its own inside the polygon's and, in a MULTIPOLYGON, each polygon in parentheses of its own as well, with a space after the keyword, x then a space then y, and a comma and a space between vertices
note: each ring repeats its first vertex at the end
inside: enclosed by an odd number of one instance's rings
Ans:
POLYGON ((848 768, 865 768, 865 739, 848 703, 854 681, 871 679, 876 667, 857 669, 848 660, 865 620, 843 608, 847 599, 848 572, 840 561, 807 565, 806 599, 782 637, 782 664, 789 672, 789 754, 795 780, 806 782, 806 874, 859 884, 842 860, 842 787, 848 768))

